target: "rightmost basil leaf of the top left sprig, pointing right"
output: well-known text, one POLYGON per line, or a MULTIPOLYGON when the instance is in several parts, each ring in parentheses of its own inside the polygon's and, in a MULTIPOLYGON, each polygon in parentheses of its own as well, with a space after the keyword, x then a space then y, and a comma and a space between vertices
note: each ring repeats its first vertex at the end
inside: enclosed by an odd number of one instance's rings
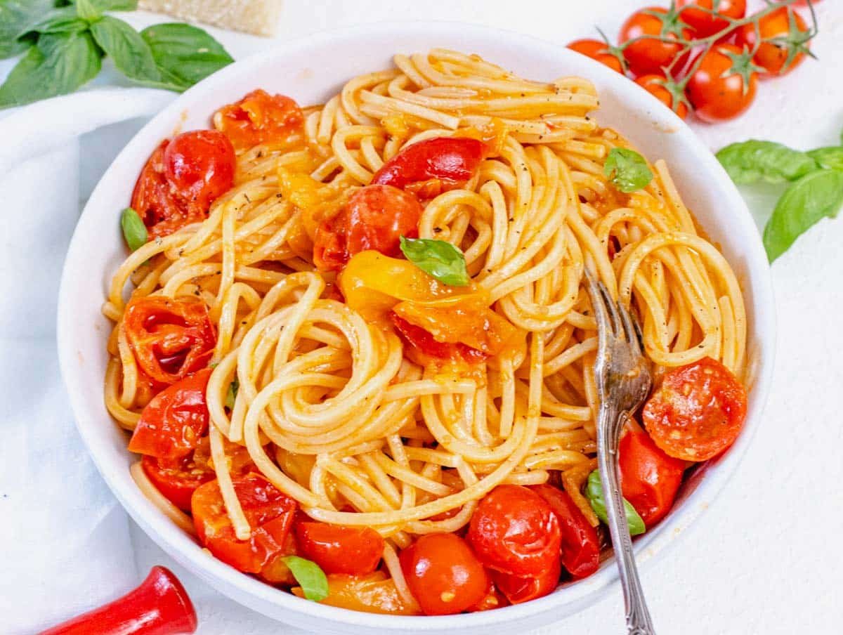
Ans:
POLYGON ((189 89, 234 59, 217 40, 190 24, 154 24, 141 31, 164 88, 189 89))

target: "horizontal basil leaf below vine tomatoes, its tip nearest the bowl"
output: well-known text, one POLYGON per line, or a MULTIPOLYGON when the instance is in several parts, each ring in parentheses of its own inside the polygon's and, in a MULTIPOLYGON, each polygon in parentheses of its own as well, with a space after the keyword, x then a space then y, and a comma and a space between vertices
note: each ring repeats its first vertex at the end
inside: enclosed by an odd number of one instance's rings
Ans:
POLYGON ((750 139, 722 148, 717 153, 717 160, 735 183, 757 180, 781 183, 797 180, 817 169, 817 162, 809 154, 781 143, 750 139))

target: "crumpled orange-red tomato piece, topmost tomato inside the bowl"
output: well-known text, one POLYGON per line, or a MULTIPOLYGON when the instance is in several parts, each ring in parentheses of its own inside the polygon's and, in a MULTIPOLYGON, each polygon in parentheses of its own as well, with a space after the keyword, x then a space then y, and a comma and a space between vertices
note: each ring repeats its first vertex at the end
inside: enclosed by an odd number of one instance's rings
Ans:
POLYGON ((258 143, 284 142, 303 125, 298 104, 282 94, 257 89, 234 104, 224 105, 213 116, 213 125, 231 139, 234 148, 245 150, 258 143))

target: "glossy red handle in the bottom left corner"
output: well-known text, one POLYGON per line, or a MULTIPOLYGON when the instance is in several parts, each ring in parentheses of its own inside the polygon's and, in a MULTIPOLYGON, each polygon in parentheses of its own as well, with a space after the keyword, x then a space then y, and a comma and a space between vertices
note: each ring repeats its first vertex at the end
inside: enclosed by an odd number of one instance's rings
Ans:
POLYGON ((137 589, 40 635, 176 635, 196 632, 196 611, 179 579, 153 567, 137 589))

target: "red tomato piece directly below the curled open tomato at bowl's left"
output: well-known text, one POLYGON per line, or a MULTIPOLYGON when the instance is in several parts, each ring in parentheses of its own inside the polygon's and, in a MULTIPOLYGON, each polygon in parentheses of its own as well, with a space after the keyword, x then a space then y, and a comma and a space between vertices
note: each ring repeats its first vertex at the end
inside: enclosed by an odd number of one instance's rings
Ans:
POLYGON ((137 422, 129 451, 159 459, 191 453, 208 428, 205 390, 211 369, 201 369, 153 397, 137 422))

